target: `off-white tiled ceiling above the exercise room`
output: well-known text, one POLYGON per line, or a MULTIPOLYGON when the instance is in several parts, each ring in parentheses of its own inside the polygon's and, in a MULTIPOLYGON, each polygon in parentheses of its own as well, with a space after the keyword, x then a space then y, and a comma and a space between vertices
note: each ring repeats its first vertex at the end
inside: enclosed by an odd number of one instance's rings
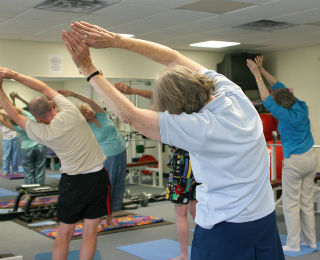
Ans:
POLYGON ((217 51, 264 52, 320 44, 320 0, 121 0, 91 14, 33 8, 43 1, 0 0, 0 39, 60 42, 62 29, 83 20, 175 49, 202 50, 189 44, 207 40, 242 43, 217 51), (232 7, 237 9, 228 10, 232 7), (262 19, 295 26, 272 32, 236 28, 262 19))

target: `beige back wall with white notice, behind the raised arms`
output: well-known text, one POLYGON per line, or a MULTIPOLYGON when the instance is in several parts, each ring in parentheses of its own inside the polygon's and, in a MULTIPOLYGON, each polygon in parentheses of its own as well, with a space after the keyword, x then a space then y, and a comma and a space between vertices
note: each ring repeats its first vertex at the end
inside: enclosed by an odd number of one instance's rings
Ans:
MULTIPOLYGON (((34 77, 81 77, 69 53, 62 43, 0 40, 0 66, 9 67, 34 77), (61 55, 63 72, 49 73, 49 55, 61 55)), ((215 68, 223 54, 185 51, 204 66, 215 68)), ((103 70, 108 78, 147 78, 153 79, 162 68, 155 62, 129 51, 120 49, 92 50, 95 65, 103 70)))

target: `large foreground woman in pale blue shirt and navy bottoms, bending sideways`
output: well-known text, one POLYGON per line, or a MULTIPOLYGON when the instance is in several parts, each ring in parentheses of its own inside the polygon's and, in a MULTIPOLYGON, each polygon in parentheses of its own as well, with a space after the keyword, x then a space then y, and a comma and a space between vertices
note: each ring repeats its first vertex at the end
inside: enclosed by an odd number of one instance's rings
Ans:
POLYGON ((181 53, 75 22, 62 40, 79 71, 122 122, 189 152, 196 188, 191 259, 284 259, 260 117, 241 88, 181 53), (89 47, 114 47, 167 68, 153 91, 155 111, 135 107, 104 76, 89 47))

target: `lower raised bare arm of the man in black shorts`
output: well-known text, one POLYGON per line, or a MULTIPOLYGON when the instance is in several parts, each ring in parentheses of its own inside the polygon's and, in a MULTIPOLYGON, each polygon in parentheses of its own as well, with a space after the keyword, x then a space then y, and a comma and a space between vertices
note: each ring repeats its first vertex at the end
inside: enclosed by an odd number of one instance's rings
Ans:
POLYGON ((27 118, 18 113, 16 107, 10 102, 9 98, 6 96, 2 89, 2 77, 0 75, 0 104, 3 109, 7 112, 8 117, 13 120, 18 126, 23 130, 26 129, 27 118))

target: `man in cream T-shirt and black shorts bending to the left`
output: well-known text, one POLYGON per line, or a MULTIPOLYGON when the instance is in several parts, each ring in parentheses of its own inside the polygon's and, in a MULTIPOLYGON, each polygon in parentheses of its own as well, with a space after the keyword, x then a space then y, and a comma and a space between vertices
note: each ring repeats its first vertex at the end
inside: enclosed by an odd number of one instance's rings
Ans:
MULTIPOLYGON (((51 148, 61 160, 57 213, 59 229, 52 259, 67 259, 74 228, 83 219, 80 259, 92 259, 97 246, 100 218, 107 214, 105 156, 80 111, 44 82, 0 67, 0 104, 30 139, 51 148), (2 79, 14 79, 44 96, 33 98, 30 113, 38 122, 20 115, 2 89, 2 79), (53 100, 59 112, 52 108, 53 100)), ((109 205, 110 206, 110 205, 109 205)))

